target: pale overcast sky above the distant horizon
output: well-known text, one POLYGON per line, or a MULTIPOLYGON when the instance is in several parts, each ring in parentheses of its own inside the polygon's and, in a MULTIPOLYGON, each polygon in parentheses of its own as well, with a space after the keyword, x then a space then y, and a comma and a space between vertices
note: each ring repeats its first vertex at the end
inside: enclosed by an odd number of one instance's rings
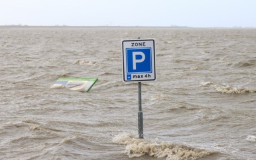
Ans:
POLYGON ((0 25, 256 27, 256 0, 0 0, 0 25))

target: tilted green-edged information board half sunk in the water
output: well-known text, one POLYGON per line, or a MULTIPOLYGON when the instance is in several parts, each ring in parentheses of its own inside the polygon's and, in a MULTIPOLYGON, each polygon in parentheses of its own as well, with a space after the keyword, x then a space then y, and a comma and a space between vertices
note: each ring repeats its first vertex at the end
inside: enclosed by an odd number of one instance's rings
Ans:
POLYGON ((97 78, 59 78, 51 89, 66 88, 74 91, 89 92, 97 78))

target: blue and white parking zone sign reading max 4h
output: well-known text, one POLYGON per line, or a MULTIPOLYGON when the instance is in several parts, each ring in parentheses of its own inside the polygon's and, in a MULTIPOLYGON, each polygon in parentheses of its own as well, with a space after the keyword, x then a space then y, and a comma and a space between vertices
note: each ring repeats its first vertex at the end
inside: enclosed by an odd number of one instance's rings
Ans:
POLYGON ((123 81, 155 81, 155 40, 123 40, 123 81))

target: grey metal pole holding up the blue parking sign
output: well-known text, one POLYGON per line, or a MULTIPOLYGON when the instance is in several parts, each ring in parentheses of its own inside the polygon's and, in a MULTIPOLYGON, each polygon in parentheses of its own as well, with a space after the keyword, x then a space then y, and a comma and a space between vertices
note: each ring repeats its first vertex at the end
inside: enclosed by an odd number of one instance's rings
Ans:
POLYGON ((139 93, 139 112, 138 112, 138 126, 139 126, 139 138, 143 138, 143 112, 141 107, 141 82, 138 82, 139 93))

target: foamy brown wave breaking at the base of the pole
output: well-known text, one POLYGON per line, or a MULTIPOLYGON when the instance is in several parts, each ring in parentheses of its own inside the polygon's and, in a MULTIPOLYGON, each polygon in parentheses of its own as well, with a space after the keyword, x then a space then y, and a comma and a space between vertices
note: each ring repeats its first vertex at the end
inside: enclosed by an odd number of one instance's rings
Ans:
POLYGON ((129 158, 150 155, 151 157, 158 158, 166 157, 166 160, 194 160, 216 153, 214 151, 207 151, 205 149, 166 141, 157 142, 137 139, 129 133, 115 136, 113 142, 127 145, 125 151, 122 153, 128 155, 129 158))

